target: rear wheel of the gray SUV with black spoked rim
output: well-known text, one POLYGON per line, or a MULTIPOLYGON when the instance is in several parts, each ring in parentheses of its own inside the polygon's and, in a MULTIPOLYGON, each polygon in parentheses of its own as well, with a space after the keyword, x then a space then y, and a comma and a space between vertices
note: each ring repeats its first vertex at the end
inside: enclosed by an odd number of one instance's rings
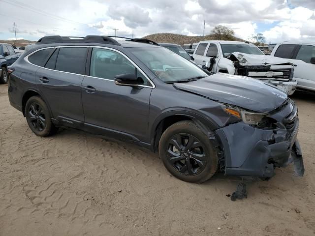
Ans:
POLYGON ((47 105, 38 96, 33 96, 27 101, 25 116, 31 130, 38 136, 46 137, 57 130, 51 121, 47 105))

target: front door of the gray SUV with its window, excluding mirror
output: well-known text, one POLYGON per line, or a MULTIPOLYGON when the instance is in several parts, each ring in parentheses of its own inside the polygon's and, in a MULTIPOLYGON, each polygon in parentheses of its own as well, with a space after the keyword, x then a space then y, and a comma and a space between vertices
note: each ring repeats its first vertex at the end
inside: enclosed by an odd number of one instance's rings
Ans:
POLYGON ((148 78, 122 53, 93 48, 90 76, 82 82, 85 124, 105 133, 143 141, 148 132, 151 91, 148 78), (125 73, 135 74, 142 82, 137 87, 116 85, 114 77, 125 73))

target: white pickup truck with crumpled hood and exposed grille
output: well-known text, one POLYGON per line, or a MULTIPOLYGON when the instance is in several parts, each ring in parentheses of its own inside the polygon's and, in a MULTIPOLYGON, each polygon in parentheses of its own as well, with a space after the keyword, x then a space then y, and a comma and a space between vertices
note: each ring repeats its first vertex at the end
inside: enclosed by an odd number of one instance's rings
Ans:
POLYGON ((293 94, 297 87, 293 79, 293 63, 288 59, 266 56, 251 43, 200 41, 192 57, 213 74, 223 72, 249 76, 277 86, 288 95, 293 94))

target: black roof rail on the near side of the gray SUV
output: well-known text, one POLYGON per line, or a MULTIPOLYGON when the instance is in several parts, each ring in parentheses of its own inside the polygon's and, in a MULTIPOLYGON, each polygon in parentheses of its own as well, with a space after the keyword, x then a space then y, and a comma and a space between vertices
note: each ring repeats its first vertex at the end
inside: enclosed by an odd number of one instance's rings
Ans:
POLYGON ((40 38, 36 44, 47 44, 47 43, 107 43, 121 45, 119 42, 108 36, 100 35, 87 35, 85 37, 72 37, 60 35, 45 36, 40 38))

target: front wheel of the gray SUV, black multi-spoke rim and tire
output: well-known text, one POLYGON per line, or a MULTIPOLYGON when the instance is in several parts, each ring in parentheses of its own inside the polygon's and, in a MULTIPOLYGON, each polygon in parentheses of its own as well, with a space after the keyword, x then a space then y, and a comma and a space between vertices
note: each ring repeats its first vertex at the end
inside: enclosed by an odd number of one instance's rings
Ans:
POLYGON ((189 120, 168 127, 158 150, 166 169, 184 181, 204 182, 218 169, 217 153, 210 140, 189 120))

